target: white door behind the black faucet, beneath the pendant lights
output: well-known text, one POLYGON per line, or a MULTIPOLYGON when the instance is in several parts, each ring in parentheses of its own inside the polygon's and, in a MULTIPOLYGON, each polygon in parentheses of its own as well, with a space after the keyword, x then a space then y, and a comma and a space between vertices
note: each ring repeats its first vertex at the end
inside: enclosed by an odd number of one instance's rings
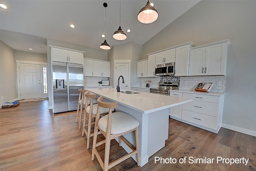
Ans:
POLYGON ((120 89, 129 89, 129 63, 116 63, 115 71, 115 86, 118 85, 118 77, 122 75, 124 77, 124 84, 122 78, 120 78, 119 86, 120 89))

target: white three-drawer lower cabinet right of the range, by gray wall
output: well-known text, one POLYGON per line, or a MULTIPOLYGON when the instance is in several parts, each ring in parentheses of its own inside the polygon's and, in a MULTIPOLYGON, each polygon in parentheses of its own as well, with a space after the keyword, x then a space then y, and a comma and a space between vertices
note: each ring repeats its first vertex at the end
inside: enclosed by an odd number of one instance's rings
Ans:
MULTIPOLYGON (((171 92, 171 94, 178 94, 171 92)), ((176 95, 178 96, 178 95, 176 95)), ((183 98, 192 102, 170 108, 170 116, 187 124, 218 133, 222 125, 224 95, 208 95, 183 92, 183 98), (182 107, 181 107, 182 106, 182 107)))

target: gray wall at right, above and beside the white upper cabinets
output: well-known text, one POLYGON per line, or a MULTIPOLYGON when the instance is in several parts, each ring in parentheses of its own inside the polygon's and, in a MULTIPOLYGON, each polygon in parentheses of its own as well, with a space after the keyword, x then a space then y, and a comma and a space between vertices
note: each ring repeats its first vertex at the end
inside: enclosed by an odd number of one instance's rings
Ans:
POLYGON ((222 123, 256 131, 256 1, 200 1, 144 43, 142 55, 230 39, 222 123))

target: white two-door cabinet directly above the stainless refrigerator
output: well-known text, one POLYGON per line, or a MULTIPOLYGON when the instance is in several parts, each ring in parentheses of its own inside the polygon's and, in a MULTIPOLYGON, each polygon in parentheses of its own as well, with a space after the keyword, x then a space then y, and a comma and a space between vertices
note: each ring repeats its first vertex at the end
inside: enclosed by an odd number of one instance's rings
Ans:
POLYGON ((83 51, 50 46, 52 61, 83 64, 83 51))

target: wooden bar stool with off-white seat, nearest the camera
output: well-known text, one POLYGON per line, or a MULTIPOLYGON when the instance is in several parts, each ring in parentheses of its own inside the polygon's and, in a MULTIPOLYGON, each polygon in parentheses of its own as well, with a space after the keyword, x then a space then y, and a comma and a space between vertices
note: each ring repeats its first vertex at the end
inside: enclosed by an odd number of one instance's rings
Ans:
POLYGON ((103 171, 107 171, 108 169, 114 167, 115 165, 118 165, 122 161, 136 154, 137 165, 139 166, 139 160, 140 160, 139 159, 139 136, 138 136, 139 122, 135 118, 133 118, 132 116, 124 112, 114 112, 112 114, 111 109, 116 108, 117 103, 106 103, 106 102, 102 102, 101 100, 102 100, 102 96, 98 98, 98 108, 97 108, 97 114, 96 114, 96 120, 95 120, 95 126, 94 126, 94 137, 93 137, 93 144, 92 144, 92 160, 94 160, 94 155, 96 155, 103 171), (102 118, 100 118, 101 107, 109 108, 108 115, 105 115, 102 118), (106 139, 97 143, 98 130, 100 130, 100 132, 104 135, 106 139), (128 141, 126 141, 122 136, 132 131, 135 131, 136 149, 128 141), (126 143, 133 151, 113 161, 112 163, 109 163, 110 140, 116 137, 119 137, 119 146, 121 145, 120 144, 120 138, 121 138, 122 140, 124 140, 124 143, 126 143), (102 159, 100 158, 100 155, 96 147, 104 143, 105 143, 105 157, 103 162, 102 159))

